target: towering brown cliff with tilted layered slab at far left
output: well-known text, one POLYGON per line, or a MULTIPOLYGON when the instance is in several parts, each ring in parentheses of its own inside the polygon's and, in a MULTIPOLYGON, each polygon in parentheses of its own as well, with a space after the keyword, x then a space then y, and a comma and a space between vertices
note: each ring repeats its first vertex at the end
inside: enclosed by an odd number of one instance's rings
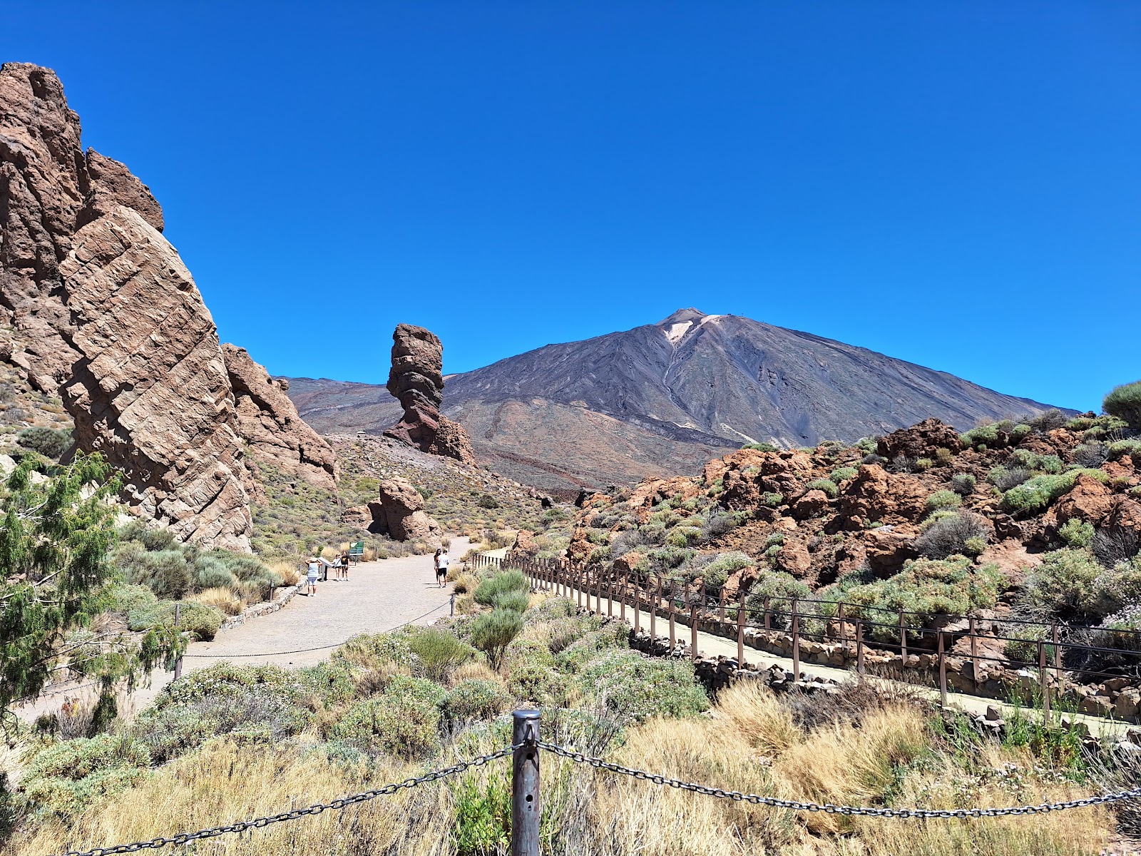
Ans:
POLYGON ((248 550, 237 414, 213 320, 162 209, 80 146, 55 73, 0 66, 0 323, 10 361, 58 394, 78 445, 180 540, 248 550))

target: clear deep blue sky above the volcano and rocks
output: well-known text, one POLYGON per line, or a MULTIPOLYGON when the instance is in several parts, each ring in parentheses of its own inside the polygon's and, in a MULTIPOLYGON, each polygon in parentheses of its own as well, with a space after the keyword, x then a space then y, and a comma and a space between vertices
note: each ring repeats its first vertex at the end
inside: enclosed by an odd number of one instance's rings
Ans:
POLYGON ((6 0, 0 58, 275 373, 696 306, 1081 409, 1141 377, 1133 0, 6 0))

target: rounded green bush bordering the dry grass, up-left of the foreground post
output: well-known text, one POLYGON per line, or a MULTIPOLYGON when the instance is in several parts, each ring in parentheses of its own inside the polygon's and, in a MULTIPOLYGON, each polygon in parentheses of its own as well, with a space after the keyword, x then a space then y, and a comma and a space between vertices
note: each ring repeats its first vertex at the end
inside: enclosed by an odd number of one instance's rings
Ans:
POLYGON ((395 675, 380 695, 349 706, 329 736, 369 753, 420 758, 439 746, 446 698, 430 680, 395 675))

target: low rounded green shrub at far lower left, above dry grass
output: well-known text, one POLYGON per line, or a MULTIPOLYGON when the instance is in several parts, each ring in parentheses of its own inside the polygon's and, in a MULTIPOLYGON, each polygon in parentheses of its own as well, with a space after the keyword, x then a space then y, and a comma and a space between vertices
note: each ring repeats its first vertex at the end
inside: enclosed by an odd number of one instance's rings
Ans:
POLYGON ((132 785, 151 766, 147 748, 130 737, 99 734, 63 741, 39 752, 24 773, 24 797, 59 815, 132 785))

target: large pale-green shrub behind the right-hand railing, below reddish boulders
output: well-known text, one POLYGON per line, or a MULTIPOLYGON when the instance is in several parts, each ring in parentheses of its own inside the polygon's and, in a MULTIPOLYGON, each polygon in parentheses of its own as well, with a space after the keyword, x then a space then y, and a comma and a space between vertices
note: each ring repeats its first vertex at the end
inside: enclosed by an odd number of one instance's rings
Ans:
MULTIPOLYGON (((936 615, 965 615, 971 609, 994 608, 1006 582, 997 565, 976 567, 968 558, 916 559, 887 580, 849 588, 844 599, 852 604, 849 614, 855 617, 882 622, 881 609, 889 614, 903 609, 917 613, 919 624, 928 624, 936 615)), ((908 622, 916 623, 916 616, 908 622)), ((887 641, 897 631, 876 628, 873 636, 887 641)))

